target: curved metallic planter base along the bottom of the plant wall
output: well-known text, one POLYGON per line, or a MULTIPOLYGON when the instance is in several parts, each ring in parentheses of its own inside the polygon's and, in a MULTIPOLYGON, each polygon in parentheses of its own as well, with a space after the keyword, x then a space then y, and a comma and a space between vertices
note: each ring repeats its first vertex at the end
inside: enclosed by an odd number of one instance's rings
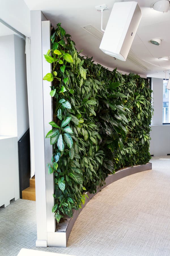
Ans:
POLYGON ((86 198, 86 201, 84 205, 82 205, 82 208, 79 210, 75 210, 73 213, 73 218, 64 218, 64 221, 56 225, 56 231, 55 232, 47 232, 47 240, 48 240, 48 246, 55 246, 55 247, 66 247, 67 241, 69 239, 69 235, 71 233, 71 230, 73 228, 73 225, 75 224, 75 221, 79 215, 79 213, 82 211, 82 209, 86 206, 86 204, 90 201, 94 195, 96 195, 101 189, 108 186, 109 184, 113 183, 114 181, 117 181, 118 179, 122 179, 126 176, 129 176, 131 174, 135 174, 138 172, 143 172, 146 170, 152 169, 152 163, 147 163, 143 165, 133 166, 124 168, 122 170, 117 171, 115 174, 109 175, 105 179, 105 185, 103 187, 97 189, 95 194, 87 193, 89 198, 86 198))

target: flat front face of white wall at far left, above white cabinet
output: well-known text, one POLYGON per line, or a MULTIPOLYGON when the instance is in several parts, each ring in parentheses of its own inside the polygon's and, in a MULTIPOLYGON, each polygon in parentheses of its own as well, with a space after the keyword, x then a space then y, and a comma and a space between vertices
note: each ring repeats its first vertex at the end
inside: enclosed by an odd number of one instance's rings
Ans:
POLYGON ((0 135, 17 137, 14 36, 0 37, 0 135))

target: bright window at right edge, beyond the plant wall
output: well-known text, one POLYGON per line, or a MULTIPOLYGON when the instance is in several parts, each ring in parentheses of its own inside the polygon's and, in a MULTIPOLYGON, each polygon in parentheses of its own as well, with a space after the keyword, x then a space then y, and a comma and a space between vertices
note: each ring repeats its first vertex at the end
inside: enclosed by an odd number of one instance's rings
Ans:
POLYGON ((170 123, 169 90, 166 88, 167 80, 163 79, 163 124, 170 123))

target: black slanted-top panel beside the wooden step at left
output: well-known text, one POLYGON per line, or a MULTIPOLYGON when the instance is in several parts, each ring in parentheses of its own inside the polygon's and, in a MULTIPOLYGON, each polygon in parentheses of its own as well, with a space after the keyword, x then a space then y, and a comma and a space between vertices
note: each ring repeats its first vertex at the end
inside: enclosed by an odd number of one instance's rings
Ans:
POLYGON ((18 161, 20 179, 20 198, 22 198, 22 190, 29 187, 29 179, 31 175, 29 129, 18 141, 18 161))

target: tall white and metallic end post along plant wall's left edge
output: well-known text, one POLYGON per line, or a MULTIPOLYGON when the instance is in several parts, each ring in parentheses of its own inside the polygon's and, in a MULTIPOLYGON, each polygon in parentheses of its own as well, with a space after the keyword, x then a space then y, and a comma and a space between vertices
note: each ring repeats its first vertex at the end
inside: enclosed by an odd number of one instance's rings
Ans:
POLYGON ((35 189, 37 213, 36 246, 48 246, 47 232, 55 232, 54 214, 54 177, 48 174, 47 163, 51 162, 52 146, 46 133, 51 129, 52 102, 50 82, 43 76, 51 72, 51 65, 44 60, 50 48, 50 22, 41 11, 31 11, 31 65, 33 86, 33 126, 35 151, 35 189), (42 21, 42 22, 41 22, 42 21))

